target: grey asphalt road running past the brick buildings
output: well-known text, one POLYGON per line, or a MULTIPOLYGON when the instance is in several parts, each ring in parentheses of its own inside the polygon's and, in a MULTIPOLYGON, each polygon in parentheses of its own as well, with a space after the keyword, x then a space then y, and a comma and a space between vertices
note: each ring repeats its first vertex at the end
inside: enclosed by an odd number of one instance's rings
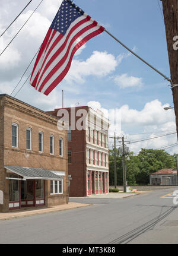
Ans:
POLYGON ((172 195, 162 197, 174 189, 125 199, 71 198, 93 205, 1 220, 0 244, 178 244, 178 206, 172 195))

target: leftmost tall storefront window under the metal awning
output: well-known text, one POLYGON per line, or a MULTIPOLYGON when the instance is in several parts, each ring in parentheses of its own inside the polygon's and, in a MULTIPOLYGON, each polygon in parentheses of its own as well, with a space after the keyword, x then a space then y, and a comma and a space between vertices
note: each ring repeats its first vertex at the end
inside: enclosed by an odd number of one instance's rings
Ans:
MULTIPOLYGON (((17 175, 10 175, 10 178, 18 178, 17 175)), ((9 179, 9 201, 19 201, 18 180, 9 179)))

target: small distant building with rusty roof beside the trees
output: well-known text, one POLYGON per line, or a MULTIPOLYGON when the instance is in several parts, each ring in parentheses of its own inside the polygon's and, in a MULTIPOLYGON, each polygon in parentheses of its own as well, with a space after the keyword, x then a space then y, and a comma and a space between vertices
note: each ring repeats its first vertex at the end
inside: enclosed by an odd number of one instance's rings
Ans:
POLYGON ((177 185, 177 169, 161 169, 151 173, 150 185, 177 185))

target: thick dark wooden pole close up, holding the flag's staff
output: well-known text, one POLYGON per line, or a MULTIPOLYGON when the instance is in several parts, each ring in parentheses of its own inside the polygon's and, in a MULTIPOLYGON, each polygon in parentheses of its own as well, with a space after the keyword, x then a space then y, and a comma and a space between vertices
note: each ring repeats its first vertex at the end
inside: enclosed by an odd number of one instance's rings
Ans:
POLYGON ((178 138, 178 1, 161 1, 163 3, 164 23, 166 27, 167 49, 169 53, 170 74, 172 81, 171 90, 173 92, 178 138))

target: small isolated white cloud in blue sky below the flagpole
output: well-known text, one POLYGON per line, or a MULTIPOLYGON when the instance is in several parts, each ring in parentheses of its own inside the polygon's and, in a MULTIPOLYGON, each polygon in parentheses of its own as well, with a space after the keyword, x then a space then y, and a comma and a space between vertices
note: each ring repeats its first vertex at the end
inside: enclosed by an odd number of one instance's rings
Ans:
POLYGON ((117 75, 114 78, 115 83, 120 89, 125 89, 127 87, 137 87, 140 88, 144 85, 142 78, 139 77, 129 77, 128 74, 117 75))

